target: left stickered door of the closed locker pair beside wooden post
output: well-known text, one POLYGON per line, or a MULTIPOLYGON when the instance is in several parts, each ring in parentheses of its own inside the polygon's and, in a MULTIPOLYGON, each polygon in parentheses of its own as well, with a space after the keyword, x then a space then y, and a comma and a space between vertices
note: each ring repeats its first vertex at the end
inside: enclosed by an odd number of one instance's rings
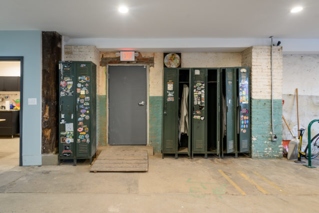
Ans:
POLYGON ((60 63, 60 113, 59 154, 60 157, 75 156, 74 141, 74 87, 75 70, 71 62, 60 63))

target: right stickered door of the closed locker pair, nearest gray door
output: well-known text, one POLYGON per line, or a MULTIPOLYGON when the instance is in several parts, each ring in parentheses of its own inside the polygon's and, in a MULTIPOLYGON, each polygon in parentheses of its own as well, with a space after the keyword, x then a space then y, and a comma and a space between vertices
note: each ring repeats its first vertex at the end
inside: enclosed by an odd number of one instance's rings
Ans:
POLYGON ((91 141, 91 63, 76 63, 75 82, 77 157, 87 157, 90 153, 89 144, 91 141))

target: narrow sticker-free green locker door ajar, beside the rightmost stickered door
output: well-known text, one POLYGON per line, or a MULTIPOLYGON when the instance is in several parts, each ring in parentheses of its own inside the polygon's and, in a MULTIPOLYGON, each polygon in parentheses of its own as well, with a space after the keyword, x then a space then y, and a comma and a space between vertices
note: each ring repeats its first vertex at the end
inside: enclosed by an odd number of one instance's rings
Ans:
POLYGON ((226 84, 226 153, 235 151, 235 109, 237 107, 234 68, 225 69, 226 84))

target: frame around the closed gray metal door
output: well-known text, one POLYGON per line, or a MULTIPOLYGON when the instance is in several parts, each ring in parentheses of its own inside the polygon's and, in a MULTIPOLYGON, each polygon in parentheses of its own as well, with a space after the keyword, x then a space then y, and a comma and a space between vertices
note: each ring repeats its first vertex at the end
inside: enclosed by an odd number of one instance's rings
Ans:
POLYGON ((107 145, 110 145, 109 141, 109 67, 118 67, 118 66, 128 66, 128 67, 145 67, 146 68, 146 145, 149 144, 149 120, 150 120, 150 113, 149 113, 149 76, 150 76, 150 67, 149 65, 143 64, 112 64, 107 65, 106 67, 106 141, 107 145))

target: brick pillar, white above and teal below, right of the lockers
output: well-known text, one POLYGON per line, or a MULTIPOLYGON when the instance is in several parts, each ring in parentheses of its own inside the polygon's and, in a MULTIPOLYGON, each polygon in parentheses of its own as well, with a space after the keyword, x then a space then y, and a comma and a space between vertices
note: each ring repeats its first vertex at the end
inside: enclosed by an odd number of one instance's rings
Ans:
POLYGON ((253 46, 241 53, 242 66, 250 67, 250 118, 252 157, 282 157, 282 47, 273 47, 273 124, 277 141, 271 141, 270 46, 253 46))

